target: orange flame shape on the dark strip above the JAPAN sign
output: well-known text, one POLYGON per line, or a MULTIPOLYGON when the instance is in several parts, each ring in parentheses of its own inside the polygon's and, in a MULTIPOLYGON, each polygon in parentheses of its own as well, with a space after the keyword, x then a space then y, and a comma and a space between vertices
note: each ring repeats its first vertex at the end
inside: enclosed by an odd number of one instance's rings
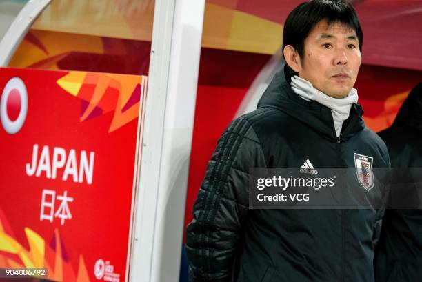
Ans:
POLYGON ((44 50, 39 46, 34 46, 30 41, 23 40, 10 60, 10 67, 28 68, 36 63, 46 61, 46 65, 41 65, 42 68, 58 69, 55 64, 70 52, 104 53, 103 42, 100 37, 41 30, 31 30, 30 32, 46 48, 48 53, 46 54, 44 50))

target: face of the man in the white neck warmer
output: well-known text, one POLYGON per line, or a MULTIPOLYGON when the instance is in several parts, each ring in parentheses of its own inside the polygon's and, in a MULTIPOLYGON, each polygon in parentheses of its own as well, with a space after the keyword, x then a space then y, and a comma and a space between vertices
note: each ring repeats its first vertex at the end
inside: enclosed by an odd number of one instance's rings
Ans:
POLYGON ((299 77, 334 98, 348 95, 361 66, 356 32, 341 23, 320 21, 305 39, 299 63, 299 77))

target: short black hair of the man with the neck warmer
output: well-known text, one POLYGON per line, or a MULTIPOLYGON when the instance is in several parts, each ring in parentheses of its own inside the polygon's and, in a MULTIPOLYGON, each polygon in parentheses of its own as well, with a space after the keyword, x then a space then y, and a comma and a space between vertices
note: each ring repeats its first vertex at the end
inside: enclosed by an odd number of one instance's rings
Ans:
POLYGON ((314 26, 323 20, 327 21, 328 26, 341 23, 352 28, 359 39, 359 50, 362 52, 361 24, 352 4, 345 0, 311 0, 294 8, 285 20, 283 50, 285 46, 291 45, 303 59, 306 37, 314 26))

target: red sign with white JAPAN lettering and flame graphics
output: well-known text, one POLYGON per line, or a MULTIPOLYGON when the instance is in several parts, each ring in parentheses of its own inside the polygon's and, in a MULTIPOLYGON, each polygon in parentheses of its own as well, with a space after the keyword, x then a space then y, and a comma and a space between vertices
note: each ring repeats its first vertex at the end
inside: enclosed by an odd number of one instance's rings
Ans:
POLYGON ((0 68, 0 268, 128 281, 145 85, 0 68))

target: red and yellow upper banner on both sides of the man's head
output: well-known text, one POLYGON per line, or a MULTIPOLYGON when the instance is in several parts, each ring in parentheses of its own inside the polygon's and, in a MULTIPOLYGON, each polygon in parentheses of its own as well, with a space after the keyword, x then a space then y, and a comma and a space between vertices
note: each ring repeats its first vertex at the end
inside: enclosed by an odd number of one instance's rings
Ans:
MULTIPOLYGON (((202 46, 274 54, 282 44, 285 19, 303 2, 208 0, 202 46)), ((365 38, 363 63, 422 70, 421 1, 350 2, 359 16, 365 38)))

